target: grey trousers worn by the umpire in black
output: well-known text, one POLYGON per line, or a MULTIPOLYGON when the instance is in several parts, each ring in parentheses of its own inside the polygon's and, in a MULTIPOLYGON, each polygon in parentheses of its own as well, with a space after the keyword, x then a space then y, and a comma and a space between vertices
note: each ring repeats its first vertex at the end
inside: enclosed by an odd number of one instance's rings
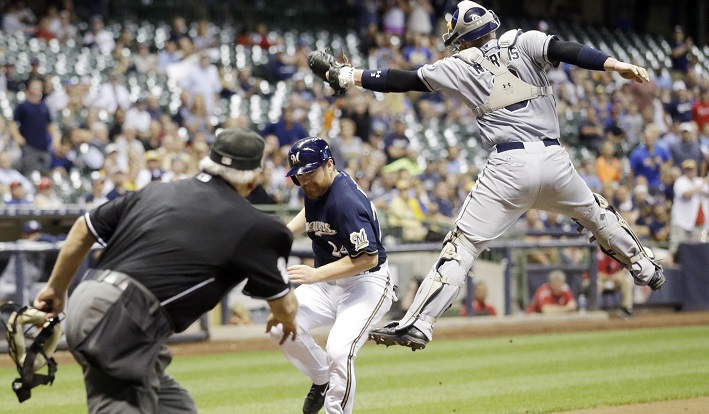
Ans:
MULTIPOLYGON (((77 352, 77 348, 82 347, 82 343, 104 319, 109 309, 117 304, 123 293, 112 284, 87 280, 79 284, 69 299, 66 341, 84 371, 89 413, 196 413, 194 400, 187 390, 165 372, 172 360, 172 354, 165 345, 167 337, 161 339, 155 363, 139 367, 147 386, 109 375, 95 361, 77 352)), ((150 317, 147 312, 141 315, 144 318, 150 317)), ((130 338, 110 340, 118 344, 130 338)))

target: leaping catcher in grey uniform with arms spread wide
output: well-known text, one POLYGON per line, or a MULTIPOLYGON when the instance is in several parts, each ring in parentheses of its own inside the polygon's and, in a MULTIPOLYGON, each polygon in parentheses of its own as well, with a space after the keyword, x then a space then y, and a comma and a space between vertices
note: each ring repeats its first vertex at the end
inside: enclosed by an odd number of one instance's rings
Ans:
POLYGON ((309 65, 339 94, 351 85, 379 92, 441 91, 466 103, 477 117, 488 161, 463 204, 441 255, 407 314, 372 331, 380 344, 422 349, 433 324, 450 306, 473 261, 528 209, 555 211, 591 231, 603 251, 623 263, 638 285, 659 289, 662 267, 631 228, 574 170, 559 143, 556 102, 545 69, 567 62, 648 82, 644 68, 539 31, 511 30, 497 38, 500 21, 472 1, 447 16, 446 46, 459 52, 416 71, 362 70, 312 52, 309 65))

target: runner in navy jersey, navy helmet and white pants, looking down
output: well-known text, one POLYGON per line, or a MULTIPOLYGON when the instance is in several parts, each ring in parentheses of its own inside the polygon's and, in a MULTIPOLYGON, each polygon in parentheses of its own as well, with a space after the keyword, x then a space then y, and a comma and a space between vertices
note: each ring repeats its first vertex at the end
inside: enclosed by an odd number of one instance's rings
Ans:
MULTIPOLYGON (((295 341, 282 343, 286 358, 311 378, 303 413, 351 413, 357 351, 389 311, 394 291, 374 205, 352 178, 335 168, 321 138, 297 141, 288 153, 291 177, 305 193, 304 208, 288 223, 312 240, 315 267, 288 268, 300 308, 295 341), (308 333, 332 325, 323 350, 308 333)), ((278 327, 274 339, 282 337, 278 327)))

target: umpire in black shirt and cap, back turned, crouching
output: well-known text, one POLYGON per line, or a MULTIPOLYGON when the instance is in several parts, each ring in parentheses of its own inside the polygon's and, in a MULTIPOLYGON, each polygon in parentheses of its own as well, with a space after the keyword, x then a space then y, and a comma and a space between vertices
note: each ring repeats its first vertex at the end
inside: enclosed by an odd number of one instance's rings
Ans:
MULTIPOLYGON (((226 129, 192 179, 153 183, 80 217, 34 306, 64 310, 67 288, 95 242, 95 269, 68 302, 66 340, 84 370, 90 413, 195 413, 190 394, 165 372, 166 346, 248 279, 295 339, 298 303, 286 273, 292 235, 244 198, 256 187, 264 141, 226 129)), ((270 329, 270 326, 267 327, 270 329)))

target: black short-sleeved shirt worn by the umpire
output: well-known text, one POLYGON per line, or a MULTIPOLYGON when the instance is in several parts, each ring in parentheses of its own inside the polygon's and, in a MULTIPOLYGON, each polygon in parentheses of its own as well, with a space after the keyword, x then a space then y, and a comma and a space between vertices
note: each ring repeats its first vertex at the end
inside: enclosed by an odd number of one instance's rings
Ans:
POLYGON ((244 293, 272 300, 290 289, 293 236, 221 177, 152 183, 86 213, 106 248, 96 265, 126 273, 163 303, 181 332, 248 278, 244 293))

